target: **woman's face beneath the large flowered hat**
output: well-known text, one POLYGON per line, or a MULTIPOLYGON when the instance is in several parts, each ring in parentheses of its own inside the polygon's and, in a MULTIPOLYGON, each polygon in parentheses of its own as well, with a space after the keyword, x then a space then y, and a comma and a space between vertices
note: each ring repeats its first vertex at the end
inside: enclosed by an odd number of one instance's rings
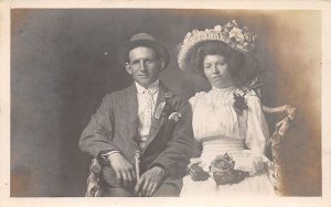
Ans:
POLYGON ((212 86, 225 88, 233 85, 229 66, 223 55, 206 55, 203 59, 203 69, 212 86))

